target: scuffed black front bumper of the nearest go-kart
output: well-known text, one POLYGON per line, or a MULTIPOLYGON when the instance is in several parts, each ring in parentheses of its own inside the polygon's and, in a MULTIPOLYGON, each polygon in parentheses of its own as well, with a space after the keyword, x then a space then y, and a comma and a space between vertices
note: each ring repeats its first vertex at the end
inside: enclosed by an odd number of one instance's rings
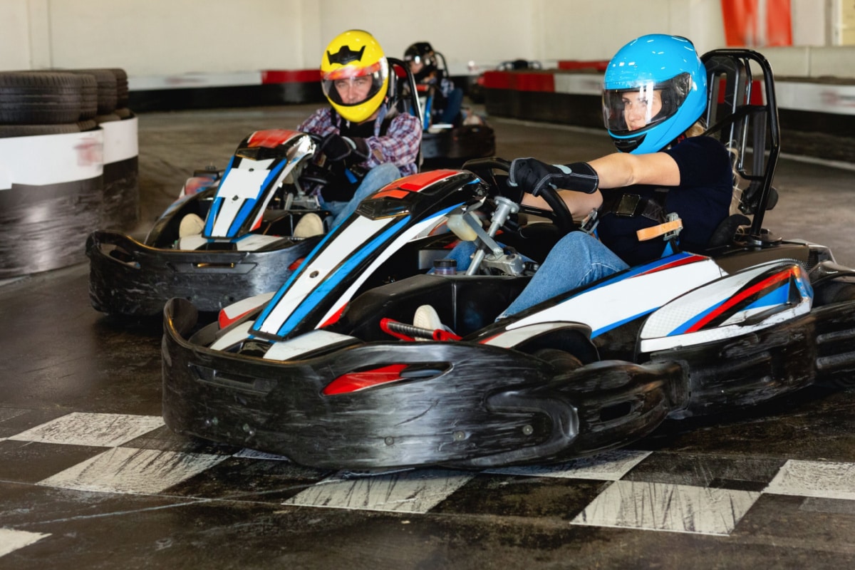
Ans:
POLYGON ((330 468, 492 467, 559 461, 628 444, 685 404, 674 362, 596 362, 560 371, 475 343, 353 339, 298 360, 205 348, 191 303, 164 309, 163 418, 175 432, 330 468), (349 375, 391 382, 325 394, 349 375))

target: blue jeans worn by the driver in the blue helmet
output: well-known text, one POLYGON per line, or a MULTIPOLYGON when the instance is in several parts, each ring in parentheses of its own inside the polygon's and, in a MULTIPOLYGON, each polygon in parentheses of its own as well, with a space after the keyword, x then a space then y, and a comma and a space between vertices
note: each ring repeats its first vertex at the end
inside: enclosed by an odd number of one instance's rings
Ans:
MULTIPOLYGON (((457 271, 466 271, 473 253, 474 242, 461 242, 447 257, 457 261, 457 271)), ((498 315, 498 319, 519 313, 546 299, 588 285, 628 267, 597 238, 585 232, 569 232, 558 240, 526 288, 498 315)))

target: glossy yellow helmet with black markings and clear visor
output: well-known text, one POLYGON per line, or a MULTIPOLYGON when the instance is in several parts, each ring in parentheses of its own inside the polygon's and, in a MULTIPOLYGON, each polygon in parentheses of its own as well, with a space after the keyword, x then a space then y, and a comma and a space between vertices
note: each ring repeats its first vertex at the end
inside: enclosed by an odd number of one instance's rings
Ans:
POLYGON ((361 123, 374 115, 388 85, 386 56, 369 32, 349 30, 327 45, 321 59, 321 87, 346 120, 361 123))

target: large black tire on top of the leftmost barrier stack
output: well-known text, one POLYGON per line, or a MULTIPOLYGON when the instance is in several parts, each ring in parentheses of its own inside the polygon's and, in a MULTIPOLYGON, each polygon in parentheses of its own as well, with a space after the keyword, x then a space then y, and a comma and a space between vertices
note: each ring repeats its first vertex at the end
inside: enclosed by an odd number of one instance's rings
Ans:
POLYGON ((50 125, 80 119, 82 79, 64 72, 0 72, 0 124, 50 125))

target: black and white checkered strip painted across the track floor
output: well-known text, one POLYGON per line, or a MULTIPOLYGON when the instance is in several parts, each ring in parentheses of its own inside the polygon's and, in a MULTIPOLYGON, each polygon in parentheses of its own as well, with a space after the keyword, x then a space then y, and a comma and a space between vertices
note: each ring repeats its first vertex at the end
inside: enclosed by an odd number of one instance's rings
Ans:
MULTIPOLYGON (((9 419, 14 410, 3 414, 0 420, 9 419)), ((0 438, 0 480, 103 493, 426 514, 460 508, 455 497, 467 487, 497 493, 507 481, 520 479, 566 485, 567 497, 573 498, 554 508, 572 525, 711 535, 733 532, 764 494, 855 499, 855 463, 830 461, 709 461, 618 450, 549 467, 481 473, 417 469, 366 476, 188 442, 158 416, 79 412, 0 438), (224 485, 230 478, 241 484, 224 485)), ((0 555, 46 536, 0 527, 0 555)))

